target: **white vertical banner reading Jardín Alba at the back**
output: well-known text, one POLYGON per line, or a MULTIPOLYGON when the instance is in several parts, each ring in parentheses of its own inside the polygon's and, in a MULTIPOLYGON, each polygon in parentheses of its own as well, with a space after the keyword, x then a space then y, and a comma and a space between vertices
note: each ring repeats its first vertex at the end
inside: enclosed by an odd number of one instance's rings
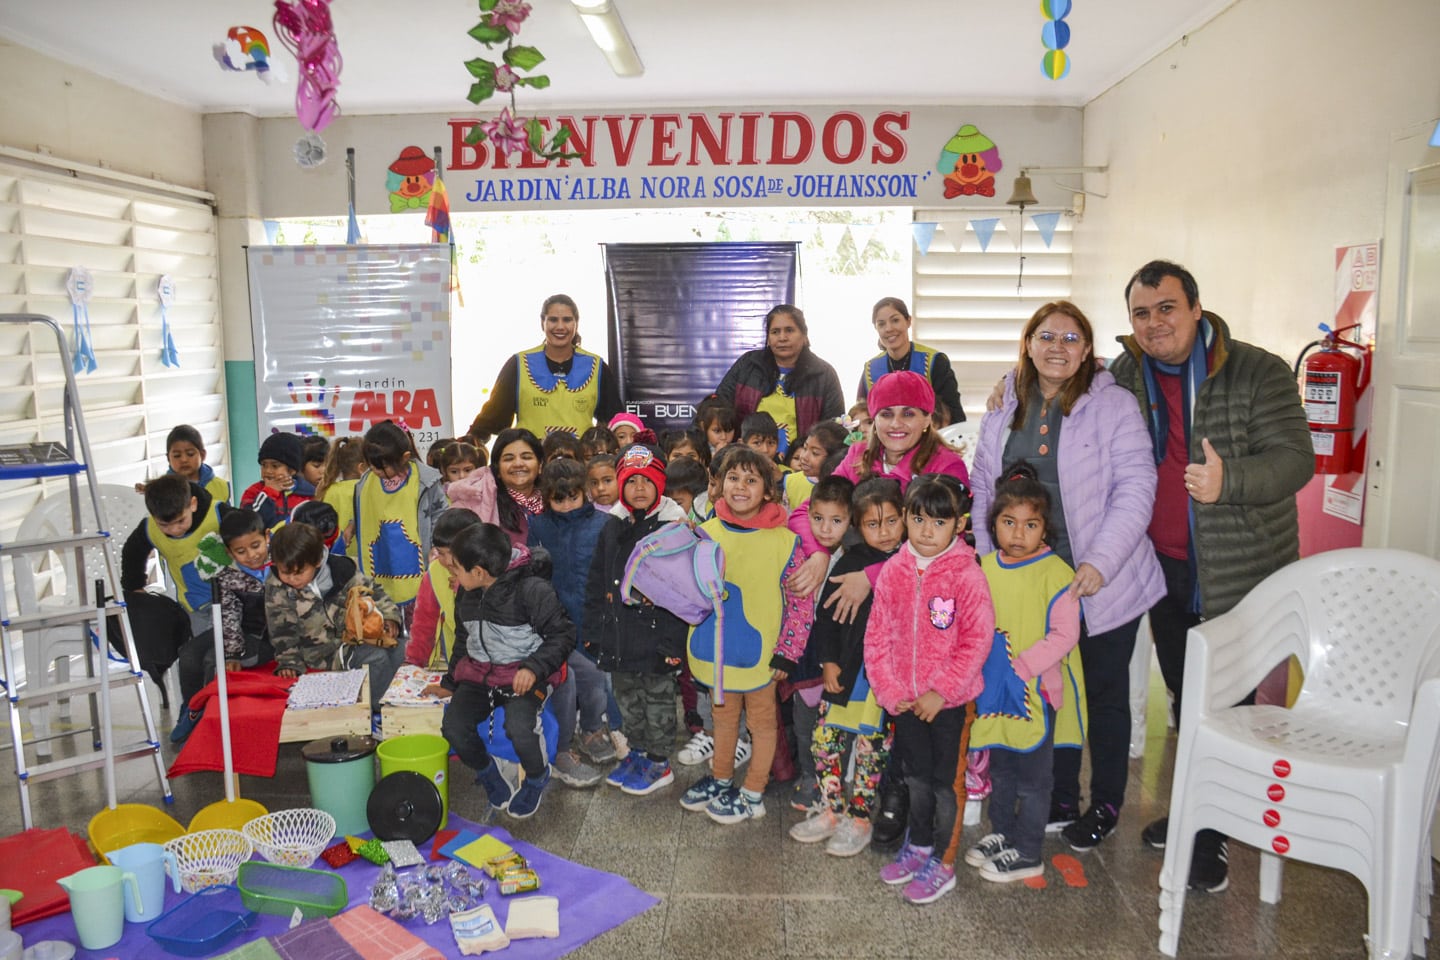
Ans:
POLYGON ((449 245, 252 246, 248 262, 262 439, 396 420, 423 456, 455 435, 449 245))

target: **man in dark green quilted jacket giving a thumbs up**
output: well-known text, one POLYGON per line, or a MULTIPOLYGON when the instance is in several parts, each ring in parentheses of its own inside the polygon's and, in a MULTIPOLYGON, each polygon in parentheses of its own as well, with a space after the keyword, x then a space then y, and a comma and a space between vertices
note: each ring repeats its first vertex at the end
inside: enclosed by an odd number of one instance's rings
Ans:
MULTIPOLYGON (((1120 338, 1110 373, 1140 402, 1155 443, 1149 534, 1166 596, 1151 607, 1151 632, 1178 720, 1189 628, 1299 558, 1295 495, 1315 472, 1315 450, 1290 367, 1201 309, 1189 271, 1152 261, 1125 299, 1135 332, 1120 338)), ((1164 848, 1166 826, 1156 820, 1142 838, 1164 848)), ((1227 885, 1225 836, 1201 830, 1189 887, 1227 885)))

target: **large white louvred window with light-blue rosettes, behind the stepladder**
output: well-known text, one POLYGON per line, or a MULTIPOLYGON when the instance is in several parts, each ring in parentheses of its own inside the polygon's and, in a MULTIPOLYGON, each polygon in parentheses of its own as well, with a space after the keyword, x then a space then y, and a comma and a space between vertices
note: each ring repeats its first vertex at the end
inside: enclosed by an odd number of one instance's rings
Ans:
MULTIPOLYGON (((225 356, 215 213, 200 201, 60 171, 0 163, 0 314, 43 314, 71 337, 71 268, 94 278, 89 301, 98 367, 78 374, 96 479, 134 484, 167 469, 166 435, 190 423, 206 462, 229 476, 225 356), (161 363, 158 279, 179 367, 161 363)), ((63 370, 53 334, 0 324, 0 443, 63 439, 63 370)), ((63 479, 0 484, 0 531, 13 531, 63 479)))

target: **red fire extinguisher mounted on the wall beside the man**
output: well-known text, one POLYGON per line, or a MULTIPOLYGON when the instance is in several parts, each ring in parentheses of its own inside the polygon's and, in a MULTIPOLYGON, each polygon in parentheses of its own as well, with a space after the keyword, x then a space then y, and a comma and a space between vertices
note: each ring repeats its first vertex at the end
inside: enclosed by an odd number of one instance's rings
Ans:
POLYGON ((1306 344, 1295 361, 1297 376, 1302 367, 1305 370, 1300 394, 1305 419, 1310 425, 1316 474, 1349 474, 1358 468, 1354 456, 1355 404, 1369 386, 1371 347, 1341 338, 1346 330, 1358 327, 1351 324, 1331 330, 1328 324, 1320 324, 1325 337, 1306 344), (1319 353, 1306 358, 1316 347, 1319 353))

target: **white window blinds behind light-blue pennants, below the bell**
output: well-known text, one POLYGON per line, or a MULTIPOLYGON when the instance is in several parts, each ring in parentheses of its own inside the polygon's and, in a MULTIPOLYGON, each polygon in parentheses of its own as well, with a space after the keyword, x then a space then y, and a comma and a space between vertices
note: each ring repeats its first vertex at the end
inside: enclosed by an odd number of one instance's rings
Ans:
POLYGON ((1024 243, 1017 248, 1014 210, 956 213, 953 209, 917 209, 916 223, 936 223, 924 256, 913 258, 913 335, 943 350, 955 366, 965 416, 979 420, 995 381, 1015 366, 1020 331, 1043 304, 1070 296, 1070 240, 1073 220, 1060 217, 1050 246, 1024 217, 1024 243), (995 217, 986 249, 971 219, 995 217), (1024 281, 1017 292, 1021 249, 1024 281))

